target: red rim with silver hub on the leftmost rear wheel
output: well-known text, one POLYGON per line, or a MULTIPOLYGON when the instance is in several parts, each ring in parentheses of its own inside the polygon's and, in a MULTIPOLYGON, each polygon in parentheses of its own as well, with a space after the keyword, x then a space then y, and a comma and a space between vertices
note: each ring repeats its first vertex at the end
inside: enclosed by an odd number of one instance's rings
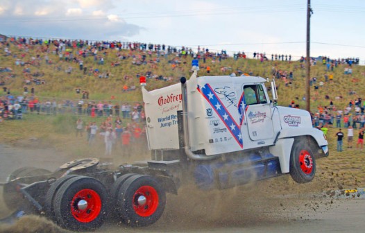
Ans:
POLYGON ((101 198, 92 189, 82 189, 71 201, 71 213, 77 221, 90 223, 101 211, 101 198))

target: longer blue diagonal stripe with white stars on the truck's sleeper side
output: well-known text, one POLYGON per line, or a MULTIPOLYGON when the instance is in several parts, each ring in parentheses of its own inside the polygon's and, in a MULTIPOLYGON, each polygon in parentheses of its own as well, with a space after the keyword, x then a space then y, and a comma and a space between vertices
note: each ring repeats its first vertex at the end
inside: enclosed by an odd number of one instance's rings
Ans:
POLYGON ((239 127, 235 119, 233 119, 230 112, 228 112, 226 106, 222 103, 221 99, 213 91, 209 83, 205 83, 205 85, 201 86, 198 85, 196 89, 198 89, 198 92, 200 92, 207 100, 207 102, 210 103, 210 105, 217 113, 221 121, 224 123, 230 134, 233 136, 233 138, 236 139, 239 146, 243 148, 244 145, 242 141, 241 128, 239 127))

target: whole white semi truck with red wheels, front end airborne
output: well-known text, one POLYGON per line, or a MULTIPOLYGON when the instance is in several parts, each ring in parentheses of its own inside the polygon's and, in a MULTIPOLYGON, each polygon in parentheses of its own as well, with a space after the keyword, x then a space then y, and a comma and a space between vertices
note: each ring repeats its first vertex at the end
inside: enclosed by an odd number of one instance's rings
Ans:
MULTIPOLYGON (((194 71, 189 80, 150 92, 141 80, 151 159, 117 169, 95 158, 54 172, 17 169, 0 183, 6 206, 15 209, 0 223, 25 211, 77 231, 100 227, 108 216, 151 225, 164 212, 165 193, 178 194, 187 182, 227 189, 290 174, 305 183, 314 178, 316 159, 328 156, 325 135, 312 128, 309 112, 273 104, 264 78, 197 77, 194 71)), ((271 89, 275 100, 274 82, 271 89)))

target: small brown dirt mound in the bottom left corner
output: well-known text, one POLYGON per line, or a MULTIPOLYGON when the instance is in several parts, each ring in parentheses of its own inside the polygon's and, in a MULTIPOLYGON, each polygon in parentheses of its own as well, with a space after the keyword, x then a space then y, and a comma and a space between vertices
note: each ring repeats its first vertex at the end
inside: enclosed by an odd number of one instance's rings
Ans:
POLYGON ((0 225, 1 233, 67 233, 56 224, 39 216, 24 216, 13 225, 0 225))

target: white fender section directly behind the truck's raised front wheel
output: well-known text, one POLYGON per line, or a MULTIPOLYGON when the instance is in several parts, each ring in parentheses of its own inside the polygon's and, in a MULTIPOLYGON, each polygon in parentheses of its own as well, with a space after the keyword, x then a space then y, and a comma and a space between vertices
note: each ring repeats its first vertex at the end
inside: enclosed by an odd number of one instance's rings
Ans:
POLYGON ((294 144, 294 138, 279 139, 274 146, 270 146, 270 153, 279 157, 280 169, 282 173, 289 173, 291 147, 294 144))

